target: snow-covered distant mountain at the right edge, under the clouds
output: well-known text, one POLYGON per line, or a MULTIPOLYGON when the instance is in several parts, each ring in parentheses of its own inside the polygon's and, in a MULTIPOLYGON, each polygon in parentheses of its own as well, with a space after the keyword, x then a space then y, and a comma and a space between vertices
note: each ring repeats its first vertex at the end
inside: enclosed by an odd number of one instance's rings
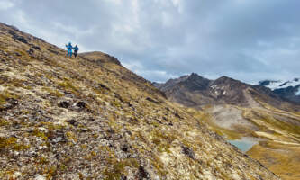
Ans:
POLYGON ((300 78, 290 81, 264 80, 259 82, 260 86, 270 88, 275 94, 300 104, 300 78))

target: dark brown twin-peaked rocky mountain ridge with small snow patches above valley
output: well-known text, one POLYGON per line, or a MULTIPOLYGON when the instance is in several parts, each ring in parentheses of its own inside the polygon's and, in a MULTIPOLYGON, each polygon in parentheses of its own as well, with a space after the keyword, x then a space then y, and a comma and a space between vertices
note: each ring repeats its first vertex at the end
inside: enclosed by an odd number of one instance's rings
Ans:
POLYGON ((243 107, 259 106, 256 98, 279 109, 297 110, 294 104, 284 101, 270 89, 261 85, 248 85, 241 81, 222 76, 209 80, 195 73, 170 79, 165 84, 154 83, 168 99, 187 107, 201 109, 206 104, 232 104, 243 107))

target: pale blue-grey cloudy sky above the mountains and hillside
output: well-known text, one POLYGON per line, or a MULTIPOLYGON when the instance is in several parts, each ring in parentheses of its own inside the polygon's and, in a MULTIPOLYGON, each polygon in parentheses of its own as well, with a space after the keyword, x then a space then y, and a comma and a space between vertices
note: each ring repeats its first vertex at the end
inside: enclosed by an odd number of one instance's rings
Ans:
POLYGON ((300 77, 299 0, 0 0, 0 22, 99 50, 151 81, 300 77))

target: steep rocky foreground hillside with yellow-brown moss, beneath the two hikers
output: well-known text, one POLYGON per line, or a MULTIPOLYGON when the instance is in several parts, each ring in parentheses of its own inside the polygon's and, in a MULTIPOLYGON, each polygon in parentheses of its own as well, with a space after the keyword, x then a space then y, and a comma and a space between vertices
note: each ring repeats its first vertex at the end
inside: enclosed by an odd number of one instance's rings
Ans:
POLYGON ((101 52, 0 23, 0 179, 279 179, 101 52))

